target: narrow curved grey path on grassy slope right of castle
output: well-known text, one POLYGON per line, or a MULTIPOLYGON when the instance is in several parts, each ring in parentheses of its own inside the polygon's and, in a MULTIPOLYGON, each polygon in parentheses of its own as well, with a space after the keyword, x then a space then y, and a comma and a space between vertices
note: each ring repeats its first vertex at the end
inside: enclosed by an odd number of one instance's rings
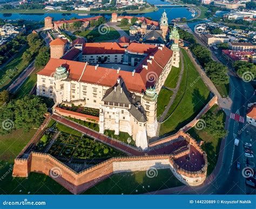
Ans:
MULTIPOLYGON (((180 52, 181 52, 181 51, 180 51, 180 52)), ((180 82, 181 82, 181 79, 182 79, 183 73, 184 73, 184 57, 183 57, 183 53, 182 53, 182 52, 180 53, 180 60, 181 60, 181 68, 180 68, 179 79, 178 79, 176 88, 170 89, 170 88, 165 87, 165 88, 167 88, 167 89, 169 89, 169 90, 172 90, 173 95, 172 95, 172 97, 171 97, 171 99, 170 99, 168 105, 166 106, 166 108, 165 108, 163 114, 161 114, 161 117, 160 117, 160 119, 159 119, 159 122, 160 122, 160 123, 164 121, 165 116, 167 115, 167 113, 168 113, 168 111, 169 111, 169 109, 170 109, 170 107, 171 107, 171 105, 172 105, 174 99, 176 98, 177 92, 178 92, 179 87, 180 87, 180 82)))

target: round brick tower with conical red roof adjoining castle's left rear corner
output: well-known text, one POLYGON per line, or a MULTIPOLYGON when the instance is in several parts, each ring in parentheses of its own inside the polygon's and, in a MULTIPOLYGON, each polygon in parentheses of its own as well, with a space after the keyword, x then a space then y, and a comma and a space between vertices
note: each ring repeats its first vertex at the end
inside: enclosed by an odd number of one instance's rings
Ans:
POLYGON ((66 43, 68 40, 57 38, 50 43, 51 58, 59 59, 66 52, 66 43))

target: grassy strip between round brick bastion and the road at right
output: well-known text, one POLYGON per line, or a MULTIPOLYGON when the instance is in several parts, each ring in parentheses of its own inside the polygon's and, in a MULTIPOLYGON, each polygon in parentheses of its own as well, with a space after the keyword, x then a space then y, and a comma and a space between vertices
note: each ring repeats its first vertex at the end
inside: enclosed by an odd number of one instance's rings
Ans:
MULTIPOLYGON (((226 115, 223 110, 218 110, 218 106, 213 106, 209 111, 213 112, 214 114, 218 114, 219 118, 223 121, 223 124, 226 120, 226 115)), ((225 124, 224 124, 225 126, 225 124)), ((191 128, 188 130, 188 133, 195 138, 198 142, 204 141, 202 145, 202 149, 207 154, 208 160, 208 169, 207 169, 207 176, 212 173, 214 170, 219 156, 221 138, 214 136, 213 134, 207 133, 204 129, 197 130, 196 128, 191 128)))

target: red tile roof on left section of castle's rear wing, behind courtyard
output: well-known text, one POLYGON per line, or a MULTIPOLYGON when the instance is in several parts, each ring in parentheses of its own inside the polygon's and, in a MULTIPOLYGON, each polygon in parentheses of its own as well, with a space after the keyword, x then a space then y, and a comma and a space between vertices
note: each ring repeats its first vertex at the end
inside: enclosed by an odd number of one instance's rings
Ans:
POLYGON ((83 54, 123 54, 125 48, 116 42, 86 43, 83 54))

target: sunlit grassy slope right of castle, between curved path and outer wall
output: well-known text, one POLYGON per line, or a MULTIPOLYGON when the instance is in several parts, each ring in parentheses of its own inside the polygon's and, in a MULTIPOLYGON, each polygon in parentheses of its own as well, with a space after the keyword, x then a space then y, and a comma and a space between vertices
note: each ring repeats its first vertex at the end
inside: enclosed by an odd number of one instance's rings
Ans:
POLYGON ((160 135, 173 133, 185 126, 185 124, 194 119, 210 100, 210 91, 203 80, 198 79, 199 74, 185 50, 181 49, 181 52, 184 55, 183 78, 166 119, 171 116, 161 124, 160 135), (194 81, 196 82, 193 83, 194 81))

